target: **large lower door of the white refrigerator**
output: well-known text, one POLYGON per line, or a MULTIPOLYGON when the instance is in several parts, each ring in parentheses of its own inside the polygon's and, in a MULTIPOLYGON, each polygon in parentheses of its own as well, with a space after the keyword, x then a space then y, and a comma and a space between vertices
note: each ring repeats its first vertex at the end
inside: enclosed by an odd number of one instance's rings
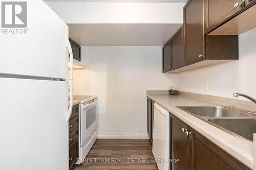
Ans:
POLYGON ((0 78, 0 84, 1 169, 68 169, 68 83, 0 78))

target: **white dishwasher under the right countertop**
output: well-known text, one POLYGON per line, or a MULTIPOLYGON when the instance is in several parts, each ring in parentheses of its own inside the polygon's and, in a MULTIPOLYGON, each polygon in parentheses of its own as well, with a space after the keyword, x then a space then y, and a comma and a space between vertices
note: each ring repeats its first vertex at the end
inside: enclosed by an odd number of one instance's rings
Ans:
POLYGON ((169 112, 154 104, 154 133, 152 152, 159 170, 169 169, 169 112))

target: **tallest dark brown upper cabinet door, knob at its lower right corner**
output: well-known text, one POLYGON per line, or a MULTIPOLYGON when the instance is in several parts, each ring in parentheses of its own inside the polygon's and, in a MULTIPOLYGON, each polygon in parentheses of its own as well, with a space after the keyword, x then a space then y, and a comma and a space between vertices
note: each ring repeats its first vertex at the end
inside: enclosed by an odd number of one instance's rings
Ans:
POLYGON ((203 60, 204 0, 190 0, 184 7, 185 65, 203 60))

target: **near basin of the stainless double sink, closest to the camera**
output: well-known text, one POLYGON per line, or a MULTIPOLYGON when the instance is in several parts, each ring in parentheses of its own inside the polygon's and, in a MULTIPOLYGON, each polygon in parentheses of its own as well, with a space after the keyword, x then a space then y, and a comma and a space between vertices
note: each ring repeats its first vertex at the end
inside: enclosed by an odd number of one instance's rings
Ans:
POLYGON ((251 141, 256 133, 255 118, 209 118, 208 121, 251 141))

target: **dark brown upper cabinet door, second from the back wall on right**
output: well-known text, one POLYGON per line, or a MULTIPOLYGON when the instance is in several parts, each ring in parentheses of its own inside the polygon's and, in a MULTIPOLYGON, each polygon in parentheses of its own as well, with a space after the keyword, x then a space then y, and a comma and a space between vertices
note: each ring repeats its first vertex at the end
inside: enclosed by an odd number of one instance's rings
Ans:
POLYGON ((172 41, 172 70, 183 66, 184 60, 184 27, 182 27, 171 39, 172 41))

